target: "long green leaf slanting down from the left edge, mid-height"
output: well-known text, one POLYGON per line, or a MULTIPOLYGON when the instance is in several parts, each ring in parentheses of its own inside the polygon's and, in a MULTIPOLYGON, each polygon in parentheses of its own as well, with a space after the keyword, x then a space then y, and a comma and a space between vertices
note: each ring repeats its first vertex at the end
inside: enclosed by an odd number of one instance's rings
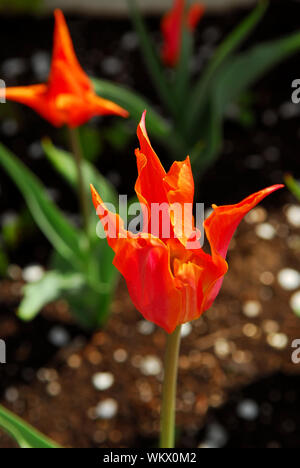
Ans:
POLYGON ((81 233, 49 199, 35 175, 2 144, 0 144, 0 164, 22 192, 36 224, 53 247, 73 265, 84 263, 81 233))

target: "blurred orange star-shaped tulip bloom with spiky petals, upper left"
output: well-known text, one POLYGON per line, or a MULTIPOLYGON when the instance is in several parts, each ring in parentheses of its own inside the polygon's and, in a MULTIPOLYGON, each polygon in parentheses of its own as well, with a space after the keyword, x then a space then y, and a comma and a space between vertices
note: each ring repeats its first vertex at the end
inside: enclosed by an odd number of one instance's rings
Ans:
POLYGON ((128 112, 117 104, 102 99, 94 92, 91 80, 81 68, 62 11, 55 10, 54 46, 47 84, 7 88, 6 98, 34 109, 60 127, 77 127, 96 115, 128 112))

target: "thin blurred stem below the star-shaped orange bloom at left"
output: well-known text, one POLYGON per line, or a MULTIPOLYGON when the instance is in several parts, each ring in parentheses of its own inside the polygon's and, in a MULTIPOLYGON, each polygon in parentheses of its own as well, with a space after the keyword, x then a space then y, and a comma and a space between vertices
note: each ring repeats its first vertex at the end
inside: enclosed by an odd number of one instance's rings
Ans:
POLYGON ((69 129, 70 142, 73 155, 75 157, 76 169, 77 169, 77 182, 78 182, 78 198, 80 203, 80 210, 83 219, 83 226, 86 232, 86 235, 89 236, 89 205, 87 194, 84 185, 84 176, 83 176, 83 154, 79 138, 78 128, 69 129))

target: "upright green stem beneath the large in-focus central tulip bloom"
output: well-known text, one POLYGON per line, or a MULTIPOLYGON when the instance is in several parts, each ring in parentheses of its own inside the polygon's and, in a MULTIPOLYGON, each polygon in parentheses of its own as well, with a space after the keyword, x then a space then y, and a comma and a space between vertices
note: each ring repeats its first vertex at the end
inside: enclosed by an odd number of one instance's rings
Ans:
POLYGON ((178 358, 180 349, 181 325, 168 335, 165 357, 165 376, 161 410, 160 448, 174 448, 176 419, 176 387, 178 358))

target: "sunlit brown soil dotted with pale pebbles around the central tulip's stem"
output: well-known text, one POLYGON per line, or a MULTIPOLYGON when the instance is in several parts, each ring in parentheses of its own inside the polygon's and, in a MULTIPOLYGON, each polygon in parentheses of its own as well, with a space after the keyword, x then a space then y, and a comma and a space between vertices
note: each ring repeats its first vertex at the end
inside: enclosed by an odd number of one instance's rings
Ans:
MULTIPOLYGON (((300 366, 291 362, 291 343, 300 337, 300 320, 289 308, 291 293, 276 280, 280 269, 297 267, 300 232, 288 227, 284 210, 270 214, 268 222, 277 229, 276 238, 269 241, 254 234, 255 224, 243 222, 230 250, 222 293, 183 338, 177 401, 179 447, 201 442, 199 431, 208 414, 224 405, 233 390, 279 371, 300 374, 300 366), (275 277, 270 285, 263 284, 270 282, 270 275, 262 276, 265 272, 275 277), (247 300, 261 303, 258 317, 243 313, 247 300), (270 345, 272 333, 277 332, 288 337, 282 350, 270 345)), ((64 446, 155 446, 161 373, 143 375, 141 362, 146 356, 163 359, 165 334, 160 329, 148 336, 139 332, 142 317, 123 282, 106 328, 91 336, 70 324, 62 302, 49 306, 38 320, 21 323, 12 312, 20 286, 19 282, 1 284, 5 313, 0 336, 7 340, 9 354, 8 364, 1 367, 1 403, 64 446), (72 340, 57 351, 47 334, 53 324, 64 322, 72 340), (111 372, 114 385, 97 391, 91 381, 96 372, 111 372), (11 387, 17 389, 17 396, 11 387), (11 395, 15 401, 10 403, 11 395), (118 402, 117 415, 96 419, 94 408, 107 398, 118 402)), ((299 405, 297 396, 290 417, 299 405)), ((12 443, 1 434, 0 446, 12 443)))

